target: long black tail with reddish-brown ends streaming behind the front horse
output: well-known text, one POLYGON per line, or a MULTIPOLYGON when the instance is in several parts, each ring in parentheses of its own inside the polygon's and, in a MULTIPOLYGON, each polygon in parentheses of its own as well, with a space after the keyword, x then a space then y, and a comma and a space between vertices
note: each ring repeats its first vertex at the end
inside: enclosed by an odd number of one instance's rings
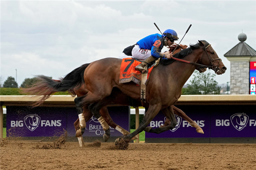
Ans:
POLYGON ((32 103, 34 107, 41 105, 57 91, 69 91, 69 93, 74 95, 74 89, 79 89, 84 83, 84 71, 89 64, 84 64, 74 69, 60 81, 53 80, 44 75, 37 75, 36 83, 28 88, 21 88, 20 93, 24 95, 40 96, 38 101, 32 103))

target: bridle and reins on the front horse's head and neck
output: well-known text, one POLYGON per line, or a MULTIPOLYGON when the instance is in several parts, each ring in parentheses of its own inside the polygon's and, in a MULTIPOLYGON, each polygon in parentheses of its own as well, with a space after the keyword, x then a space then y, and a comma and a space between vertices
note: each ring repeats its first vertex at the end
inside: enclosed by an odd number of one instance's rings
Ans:
MULTIPOLYGON (((182 60, 182 59, 180 59, 180 58, 175 58, 175 57, 171 57, 171 58, 174 59, 174 60, 180 61, 180 62, 184 62, 184 63, 188 63, 188 64, 194 64, 194 65, 197 65, 198 67, 203 67, 203 68, 207 67, 207 68, 210 68, 210 69, 214 70, 214 72, 217 73, 217 72, 219 71, 219 69, 217 70, 217 68, 219 67, 219 64, 221 63, 221 58, 215 58, 215 59, 212 59, 212 58, 211 58, 211 56, 210 56, 210 55, 207 53, 207 51, 206 51, 206 49, 207 49, 208 47, 210 47, 210 46, 211 46, 211 44, 209 44, 208 46, 206 46, 206 47, 203 48, 203 54, 204 54, 204 51, 205 51, 205 53, 207 54, 207 56, 208 56, 208 58, 209 58, 209 60, 210 60, 210 66, 203 65, 203 64, 198 64, 198 63, 193 63, 193 62, 189 62, 189 61, 186 61, 186 60, 182 60), (212 63, 214 60, 219 60, 218 66, 216 66, 216 65, 214 65, 214 64, 212 63)), ((201 63, 201 61, 202 61, 203 54, 202 54, 202 56, 201 56, 201 58, 200 58, 200 63, 201 63)))

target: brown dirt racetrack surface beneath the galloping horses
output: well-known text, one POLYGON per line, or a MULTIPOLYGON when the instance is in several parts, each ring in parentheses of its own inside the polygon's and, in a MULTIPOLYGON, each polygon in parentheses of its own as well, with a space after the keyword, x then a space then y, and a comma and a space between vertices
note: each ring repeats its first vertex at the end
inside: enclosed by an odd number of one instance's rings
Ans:
POLYGON ((0 169, 256 169, 255 144, 130 143, 127 150, 114 143, 55 144, 0 141, 0 169))

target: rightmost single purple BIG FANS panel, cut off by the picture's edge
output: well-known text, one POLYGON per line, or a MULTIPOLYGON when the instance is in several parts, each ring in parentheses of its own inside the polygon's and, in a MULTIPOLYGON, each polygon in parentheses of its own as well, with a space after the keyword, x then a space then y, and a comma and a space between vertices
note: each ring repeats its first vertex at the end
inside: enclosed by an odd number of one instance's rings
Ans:
POLYGON ((254 105, 218 107, 222 109, 211 112, 211 137, 256 137, 254 105))

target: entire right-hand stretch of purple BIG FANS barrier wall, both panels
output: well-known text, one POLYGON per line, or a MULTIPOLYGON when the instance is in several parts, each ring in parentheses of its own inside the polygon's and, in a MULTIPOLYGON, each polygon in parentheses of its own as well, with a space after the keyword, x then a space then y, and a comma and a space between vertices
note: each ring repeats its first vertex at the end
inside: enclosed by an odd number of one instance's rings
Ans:
MULTIPOLYGON (((161 134, 145 133, 147 138, 219 138, 256 137, 256 114, 254 105, 178 105, 187 116, 203 129, 199 134, 184 119, 176 115, 174 129, 161 134)), ((151 121, 158 128, 165 121, 162 112, 151 121)))

